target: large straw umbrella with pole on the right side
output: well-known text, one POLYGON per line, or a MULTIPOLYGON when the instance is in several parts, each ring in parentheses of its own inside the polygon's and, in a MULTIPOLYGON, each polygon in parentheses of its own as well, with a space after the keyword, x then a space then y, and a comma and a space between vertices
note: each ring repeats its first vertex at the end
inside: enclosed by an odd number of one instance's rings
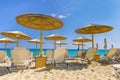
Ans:
POLYGON ((108 32, 112 29, 113 28, 111 26, 107 25, 90 24, 77 29, 75 32, 79 34, 92 34, 92 48, 94 48, 94 34, 108 32))

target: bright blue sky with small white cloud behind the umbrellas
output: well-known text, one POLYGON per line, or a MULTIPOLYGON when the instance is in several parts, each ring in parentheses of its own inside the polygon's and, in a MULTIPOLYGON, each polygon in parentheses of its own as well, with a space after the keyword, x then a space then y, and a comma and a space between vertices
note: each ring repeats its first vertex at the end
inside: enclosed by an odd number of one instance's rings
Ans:
MULTIPOLYGON (((120 0, 2 0, 0 1, 0 32, 21 31, 31 36, 33 39, 40 37, 39 30, 33 30, 21 26, 16 22, 16 17, 21 14, 45 14, 60 19, 64 26, 58 30, 44 31, 43 38, 50 34, 60 34, 67 37, 65 42, 67 49, 76 49, 72 45, 73 39, 84 36, 91 38, 90 34, 77 34, 79 29, 88 24, 103 24, 112 26, 110 32, 95 34, 95 46, 99 49, 104 47, 104 38, 107 38, 108 49, 111 44, 120 48, 120 0)), ((0 35, 0 38, 5 36, 0 35)), ((44 39, 43 39, 44 40, 44 39)), ((44 49, 53 49, 53 41, 44 40, 44 49)), ((90 48, 91 43, 85 43, 85 48, 90 48)), ((8 48, 15 47, 16 44, 9 44, 8 48)), ((20 47, 35 48, 35 44, 26 40, 19 41, 20 47)), ((4 43, 0 43, 0 48, 4 48, 4 43)))

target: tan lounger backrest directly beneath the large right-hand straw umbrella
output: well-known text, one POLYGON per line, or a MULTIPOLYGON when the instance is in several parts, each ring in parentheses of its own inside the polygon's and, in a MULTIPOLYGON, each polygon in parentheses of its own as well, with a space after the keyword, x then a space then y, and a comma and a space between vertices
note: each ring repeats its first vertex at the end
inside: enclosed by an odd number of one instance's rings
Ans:
POLYGON ((89 60, 92 60, 94 58, 94 55, 98 55, 97 54, 97 49, 96 48, 91 48, 88 49, 85 58, 88 58, 89 60))

